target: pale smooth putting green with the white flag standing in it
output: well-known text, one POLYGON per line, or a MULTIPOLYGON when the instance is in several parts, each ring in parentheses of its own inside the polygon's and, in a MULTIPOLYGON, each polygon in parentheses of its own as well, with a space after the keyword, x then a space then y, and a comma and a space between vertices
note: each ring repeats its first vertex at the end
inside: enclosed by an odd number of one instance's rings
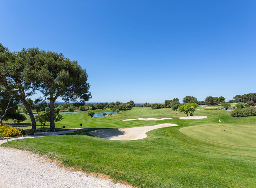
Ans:
POLYGON ((218 145, 256 148, 256 125, 202 124, 180 128, 179 131, 194 139, 218 145))

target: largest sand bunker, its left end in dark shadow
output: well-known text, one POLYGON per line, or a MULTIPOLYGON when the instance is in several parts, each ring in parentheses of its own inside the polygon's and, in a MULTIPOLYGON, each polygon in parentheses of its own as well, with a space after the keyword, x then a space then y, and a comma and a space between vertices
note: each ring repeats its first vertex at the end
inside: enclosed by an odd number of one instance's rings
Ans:
POLYGON ((132 127, 132 128, 111 128, 111 129, 99 129, 90 131, 89 134, 95 137, 105 138, 109 140, 139 140, 146 138, 148 131, 154 130, 156 128, 162 127, 173 127, 178 126, 172 123, 163 123, 153 126, 145 127, 132 127))

